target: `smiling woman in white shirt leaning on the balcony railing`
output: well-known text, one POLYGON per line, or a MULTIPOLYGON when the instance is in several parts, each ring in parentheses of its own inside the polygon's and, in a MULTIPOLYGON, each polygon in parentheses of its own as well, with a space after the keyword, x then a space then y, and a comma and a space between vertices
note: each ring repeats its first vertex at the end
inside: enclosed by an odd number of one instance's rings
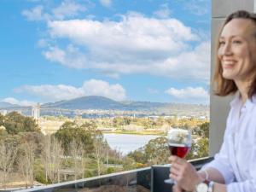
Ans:
POLYGON ((199 172, 186 160, 171 156, 173 191, 256 192, 256 15, 237 11, 228 16, 217 48, 215 94, 236 93, 224 143, 199 172))

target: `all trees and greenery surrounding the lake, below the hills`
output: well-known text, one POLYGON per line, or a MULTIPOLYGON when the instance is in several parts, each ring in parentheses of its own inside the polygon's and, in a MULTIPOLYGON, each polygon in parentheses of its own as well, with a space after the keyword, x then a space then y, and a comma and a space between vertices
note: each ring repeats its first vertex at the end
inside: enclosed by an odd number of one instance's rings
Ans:
MULTIPOLYGON (((191 129, 196 142, 188 159, 208 155, 209 124, 195 119, 108 119, 115 126, 137 124, 164 125, 191 129), (154 122, 154 124, 152 123, 154 122), (189 122, 194 122, 191 125, 189 122), (185 126, 186 125, 186 126, 185 126)), ((128 155, 113 150, 97 128, 104 119, 66 121, 50 136, 44 136, 37 122, 20 113, 0 114, 0 183, 24 181, 26 187, 39 183, 59 183, 83 177, 121 172, 152 164, 168 163, 166 137, 149 141, 128 155), (113 165, 113 166, 111 166, 113 165)), ((107 124, 109 122, 107 121, 107 124)), ((131 141, 132 142, 132 141, 131 141)))

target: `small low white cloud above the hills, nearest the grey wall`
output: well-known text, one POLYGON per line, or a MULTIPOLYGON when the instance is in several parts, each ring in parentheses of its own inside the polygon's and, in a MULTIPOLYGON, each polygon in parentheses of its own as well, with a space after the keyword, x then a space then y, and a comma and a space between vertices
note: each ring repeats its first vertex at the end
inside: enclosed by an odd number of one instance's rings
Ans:
POLYGON ((201 102, 205 103, 208 102, 209 100, 209 93, 207 90, 204 90, 202 87, 187 87, 184 89, 175 89, 175 88, 170 88, 166 90, 166 93, 175 99, 179 101, 194 101, 194 102, 201 102))

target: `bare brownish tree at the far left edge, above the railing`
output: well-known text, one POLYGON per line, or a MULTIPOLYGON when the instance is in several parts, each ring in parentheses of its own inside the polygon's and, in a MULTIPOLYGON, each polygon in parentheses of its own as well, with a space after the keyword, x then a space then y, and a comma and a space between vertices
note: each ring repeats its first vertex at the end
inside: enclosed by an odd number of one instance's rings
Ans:
POLYGON ((6 183, 9 179, 9 173, 12 171, 16 155, 17 148, 11 143, 0 143, 1 183, 3 183, 4 189, 6 189, 6 183))

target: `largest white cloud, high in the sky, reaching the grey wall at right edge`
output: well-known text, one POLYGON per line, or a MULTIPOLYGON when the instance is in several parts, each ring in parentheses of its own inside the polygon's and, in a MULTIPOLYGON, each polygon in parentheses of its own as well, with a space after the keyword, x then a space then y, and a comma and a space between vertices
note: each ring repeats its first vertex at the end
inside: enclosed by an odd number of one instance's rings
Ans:
POLYGON ((180 79, 183 73, 184 79, 209 79, 210 42, 176 19, 129 13, 119 21, 55 20, 48 27, 51 38, 71 44, 51 45, 43 54, 66 67, 93 68, 115 78, 147 73, 180 79))

